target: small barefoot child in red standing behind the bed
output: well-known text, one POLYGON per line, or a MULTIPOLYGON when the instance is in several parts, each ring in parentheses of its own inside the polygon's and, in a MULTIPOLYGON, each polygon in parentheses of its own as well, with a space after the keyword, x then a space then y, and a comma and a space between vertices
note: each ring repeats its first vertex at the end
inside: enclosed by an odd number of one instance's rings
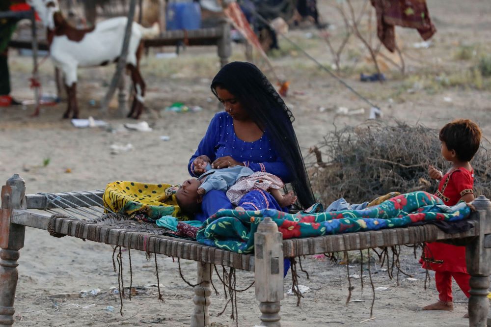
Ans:
MULTIPOLYGON (((470 161, 479 149, 481 130, 468 119, 458 119, 440 130, 441 155, 452 167, 443 174, 434 166, 428 167, 430 178, 439 180, 435 195, 447 206, 460 201, 474 200, 474 171, 470 161)), ((435 271, 438 301, 423 307, 423 310, 453 310, 452 277, 469 298, 469 279, 465 265, 465 246, 443 243, 427 243, 420 263, 422 267, 435 271)), ((468 317, 468 315, 465 315, 468 317)))

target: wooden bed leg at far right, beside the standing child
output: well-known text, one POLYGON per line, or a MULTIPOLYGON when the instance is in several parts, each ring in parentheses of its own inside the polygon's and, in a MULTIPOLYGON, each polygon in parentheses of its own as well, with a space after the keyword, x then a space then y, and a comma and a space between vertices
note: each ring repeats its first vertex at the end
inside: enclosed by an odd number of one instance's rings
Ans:
POLYGON ((470 277, 469 327, 486 327, 488 320, 488 288, 491 273, 491 202, 483 195, 473 202, 479 215, 479 236, 466 246, 467 272, 470 277))

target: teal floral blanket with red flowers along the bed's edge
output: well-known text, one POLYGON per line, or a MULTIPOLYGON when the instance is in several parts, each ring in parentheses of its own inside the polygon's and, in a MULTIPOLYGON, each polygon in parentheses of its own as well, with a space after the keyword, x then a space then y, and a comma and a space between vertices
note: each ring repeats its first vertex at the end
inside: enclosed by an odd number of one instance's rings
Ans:
POLYGON ((401 194, 363 210, 319 212, 321 208, 316 204, 294 215, 273 209, 223 210, 203 222, 196 239, 205 245, 250 253, 254 250, 254 233, 264 217, 271 217, 283 239, 290 239, 406 227, 418 221, 457 221, 470 214, 465 202, 448 207, 423 191, 401 194))

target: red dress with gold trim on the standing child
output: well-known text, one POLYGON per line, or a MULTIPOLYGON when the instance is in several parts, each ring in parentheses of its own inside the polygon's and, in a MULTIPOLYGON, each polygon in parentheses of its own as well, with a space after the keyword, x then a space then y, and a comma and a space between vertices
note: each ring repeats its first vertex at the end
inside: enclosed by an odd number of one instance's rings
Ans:
MULTIPOLYGON (((461 167, 446 173, 440 180, 435 195, 447 206, 456 205, 465 194, 473 193, 474 172, 461 167)), ((423 268, 436 272, 467 273, 465 246, 444 243, 427 243, 423 268)))

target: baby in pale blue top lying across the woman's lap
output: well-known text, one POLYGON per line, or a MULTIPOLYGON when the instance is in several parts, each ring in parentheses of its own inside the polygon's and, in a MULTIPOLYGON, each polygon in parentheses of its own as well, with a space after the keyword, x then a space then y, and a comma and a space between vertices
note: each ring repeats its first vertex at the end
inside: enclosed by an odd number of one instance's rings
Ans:
MULTIPOLYGON (((206 166, 206 171, 197 179, 191 178, 182 183, 176 192, 177 204, 183 212, 193 214, 199 211, 202 197, 210 190, 227 191, 227 197, 234 205, 253 189, 268 191, 281 207, 287 207, 297 201, 297 196, 290 191, 281 194, 279 191, 284 184, 281 179, 266 172, 254 172, 245 166, 233 166, 222 169, 212 169, 206 166)), ((241 207, 236 210, 244 210, 241 207)))

